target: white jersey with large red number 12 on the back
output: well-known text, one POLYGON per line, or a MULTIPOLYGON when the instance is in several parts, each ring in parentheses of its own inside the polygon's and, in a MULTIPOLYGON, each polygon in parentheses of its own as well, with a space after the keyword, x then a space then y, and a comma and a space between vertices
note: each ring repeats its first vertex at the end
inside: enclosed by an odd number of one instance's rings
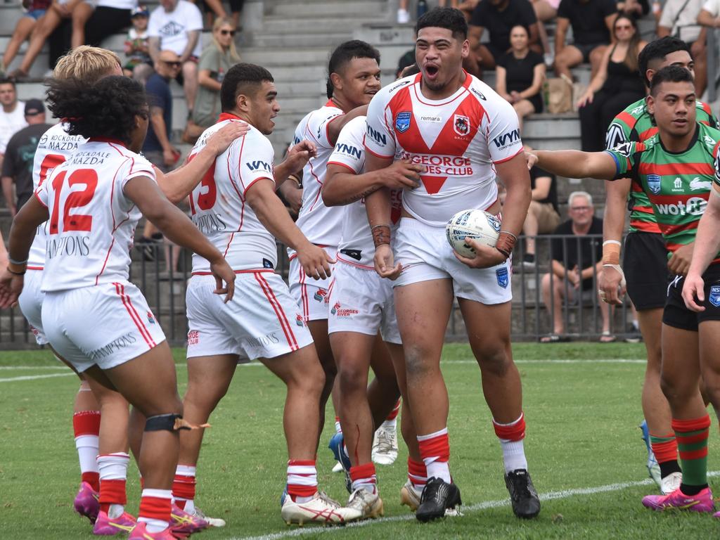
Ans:
POLYGON ((35 190, 50 214, 43 292, 127 280, 142 215, 123 189, 138 176, 155 180, 148 160, 120 141, 97 138, 78 146, 35 190))

